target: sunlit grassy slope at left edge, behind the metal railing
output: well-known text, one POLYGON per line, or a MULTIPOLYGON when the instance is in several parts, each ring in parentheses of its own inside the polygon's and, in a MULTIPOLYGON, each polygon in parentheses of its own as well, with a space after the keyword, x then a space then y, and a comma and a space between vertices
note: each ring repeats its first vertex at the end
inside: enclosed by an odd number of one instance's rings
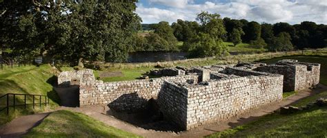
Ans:
MULTIPOLYGON (((26 66, 26 67, 14 67, 5 68, 0 71, 0 95, 6 93, 28 93, 28 94, 39 94, 48 95, 50 97, 50 106, 44 108, 32 109, 28 106, 27 109, 10 108, 10 115, 6 115, 6 111, 0 113, 0 124, 4 124, 14 119, 19 115, 28 115, 30 113, 45 111, 54 106, 58 106, 57 102, 59 97, 52 91, 51 82, 55 81, 55 77, 52 77, 52 70, 50 65, 42 65, 41 67, 26 66)), ((10 98, 10 105, 12 105, 12 96, 10 98)), ((32 97, 26 97, 28 102, 32 103, 32 97)), ((44 100, 44 99, 43 99, 44 100)), ((42 100, 42 102, 43 102, 42 100)), ((36 98, 36 103, 39 102, 39 97, 36 98)), ((16 97, 16 104, 23 104, 23 96, 16 97)), ((6 106, 6 97, 0 99, 0 106, 6 106)))

